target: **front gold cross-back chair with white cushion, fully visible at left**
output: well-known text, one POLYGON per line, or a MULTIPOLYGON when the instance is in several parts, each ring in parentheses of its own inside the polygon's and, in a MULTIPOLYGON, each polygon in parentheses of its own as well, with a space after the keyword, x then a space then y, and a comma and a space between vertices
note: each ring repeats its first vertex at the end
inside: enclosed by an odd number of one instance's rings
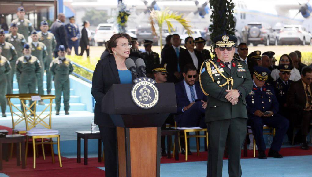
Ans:
MULTIPOLYGON (((51 129, 51 120, 52 120, 52 103, 55 95, 40 95, 41 100, 50 100, 50 103, 46 106, 45 109, 41 111, 40 114, 37 114, 31 108, 37 104, 37 101, 34 101, 30 106, 26 105, 26 100, 31 100, 31 96, 20 96, 19 99, 22 102, 25 122, 26 122, 26 158, 27 158, 27 151, 28 151, 28 141, 29 138, 32 138, 32 146, 34 151, 34 169, 36 168, 36 145, 42 146, 44 144, 51 145, 51 155, 52 155, 52 163, 54 163, 54 151, 53 151, 53 144, 57 144, 57 151, 58 151, 58 158, 60 162, 60 167, 62 167, 61 161, 61 152, 60 152, 60 134, 58 130, 51 129), (49 108, 49 114, 43 115, 43 113, 49 108), (30 118, 27 112, 30 111, 31 114, 34 115, 35 119, 30 118), (48 123, 46 123, 45 119, 48 118, 48 123), (36 125, 41 125, 44 128, 34 128, 36 125), (49 140, 44 141, 43 138, 49 138, 49 140), (52 138, 57 138, 57 142, 53 142, 52 138), (35 142, 35 139, 41 139, 41 142, 35 142)), ((31 115, 30 114, 30 115, 31 115)), ((43 151, 43 158, 45 159, 45 153, 43 151)))

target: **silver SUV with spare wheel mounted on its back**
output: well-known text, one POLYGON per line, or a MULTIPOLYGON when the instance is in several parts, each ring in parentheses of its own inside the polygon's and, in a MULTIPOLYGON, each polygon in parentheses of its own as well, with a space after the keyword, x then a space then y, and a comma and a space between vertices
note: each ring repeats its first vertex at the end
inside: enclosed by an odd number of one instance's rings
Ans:
POLYGON ((278 45, 276 33, 272 30, 271 26, 267 23, 248 23, 248 41, 257 46, 258 44, 264 45, 278 45))

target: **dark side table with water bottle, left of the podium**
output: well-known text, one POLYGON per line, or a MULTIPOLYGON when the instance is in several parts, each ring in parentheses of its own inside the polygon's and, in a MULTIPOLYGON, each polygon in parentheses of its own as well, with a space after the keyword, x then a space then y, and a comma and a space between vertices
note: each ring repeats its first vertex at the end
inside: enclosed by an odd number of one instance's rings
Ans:
POLYGON ((84 139, 84 165, 88 165, 88 139, 98 139, 98 162, 102 161, 102 140, 100 133, 77 131, 77 163, 81 160, 81 138, 84 139))

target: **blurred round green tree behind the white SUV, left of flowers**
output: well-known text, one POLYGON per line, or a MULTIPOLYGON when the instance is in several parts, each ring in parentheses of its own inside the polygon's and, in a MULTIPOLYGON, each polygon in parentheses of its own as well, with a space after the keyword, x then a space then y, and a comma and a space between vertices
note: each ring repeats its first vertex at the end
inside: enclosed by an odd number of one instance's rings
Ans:
POLYGON ((85 12, 85 16, 82 17, 82 21, 89 21, 90 25, 98 25, 100 23, 107 23, 107 19, 110 16, 107 15, 106 11, 89 10, 85 12))

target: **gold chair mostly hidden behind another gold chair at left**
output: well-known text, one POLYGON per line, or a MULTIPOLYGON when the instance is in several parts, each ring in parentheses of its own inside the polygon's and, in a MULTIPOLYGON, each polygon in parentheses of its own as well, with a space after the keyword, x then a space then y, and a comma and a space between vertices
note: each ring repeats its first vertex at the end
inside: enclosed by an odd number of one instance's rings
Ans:
MULTIPOLYGON (((23 134, 26 133, 26 128, 15 128, 15 126, 19 123, 21 123, 23 120, 25 120, 24 117, 24 111, 18 108, 16 105, 14 105, 11 101, 12 98, 18 99, 20 96, 32 96, 32 95, 39 95, 37 93, 21 93, 21 94, 7 94, 5 97, 7 98, 7 102, 10 107, 11 116, 12 116, 12 134, 23 134), (17 109, 17 112, 13 111, 13 108, 17 109), (18 119, 14 120, 14 116, 17 116, 18 119)), ((36 107, 35 107, 36 110, 36 107)), ((11 143, 11 152, 10 152, 10 158, 12 159, 13 154, 13 144, 11 143)), ((21 149, 21 148, 20 148, 21 149)), ((21 154, 21 153, 20 153, 21 154)))

